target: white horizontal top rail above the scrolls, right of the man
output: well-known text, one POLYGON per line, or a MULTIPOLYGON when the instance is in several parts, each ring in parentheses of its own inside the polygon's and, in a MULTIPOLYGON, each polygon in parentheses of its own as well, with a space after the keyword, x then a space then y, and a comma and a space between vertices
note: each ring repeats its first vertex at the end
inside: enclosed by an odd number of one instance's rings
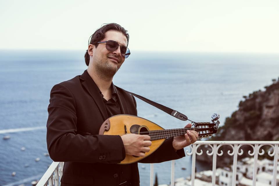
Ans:
POLYGON ((279 141, 196 141, 194 144, 279 144, 279 141))

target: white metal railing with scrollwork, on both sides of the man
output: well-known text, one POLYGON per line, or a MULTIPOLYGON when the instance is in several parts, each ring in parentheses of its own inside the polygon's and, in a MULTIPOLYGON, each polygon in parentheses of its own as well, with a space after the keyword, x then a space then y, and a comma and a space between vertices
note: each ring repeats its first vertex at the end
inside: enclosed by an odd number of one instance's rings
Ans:
MULTIPOLYGON (((196 155, 202 155, 203 151, 198 149, 202 145, 207 145, 210 147, 211 151, 206 151, 208 156, 212 156, 212 186, 216 184, 216 162, 217 155, 222 156, 223 151, 219 150, 221 146, 228 145, 232 149, 227 153, 230 156, 233 156, 233 165, 232 165, 232 186, 236 185, 236 175, 237 175, 237 156, 243 154, 242 146, 248 145, 251 146, 253 152, 248 151, 248 154, 254 158, 253 166, 253 186, 256 185, 256 175, 257 175, 257 161, 258 155, 264 155, 266 153, 263 149, 263 146, 270 146, 267 154, 270 157, 274 156, 273 161, 273 181, 272 186, 276 186, 276 174, 277 174, 277 165, 278 165, 278 155, 279 155, 279 142, 277 141, 197 141, 190 146, 191 152, 186 150, 186 155, 192 155, 192 174, 191 180, 195 179, 195 169, 196 169, 196 155)), ((171 161, 171 186, 174 186, 174 162, 171 161)), ((60 185, 60 179, 62 176, 63 162, 53 162, 51 166, 47 169, 45 174, 42 176, 37 186, 47 186, 47 185, 60 185)), ((154 180, 154 165, 150 164, 150 186, 153 186, 154 180)), ((194 181, 192 181, 192 186, 194 186, 194 181)))

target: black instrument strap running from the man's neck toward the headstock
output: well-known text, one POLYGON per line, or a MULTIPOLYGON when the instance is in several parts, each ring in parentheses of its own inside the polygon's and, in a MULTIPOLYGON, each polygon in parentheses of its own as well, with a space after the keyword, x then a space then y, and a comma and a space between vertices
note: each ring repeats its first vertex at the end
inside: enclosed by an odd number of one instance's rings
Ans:
MULTIPOLYGON (((117 87, 117 86, 115 86, 115 87, 117 87)), ((127 90, 124 90, 124 89, 122 89, 120 87, 117 87, 117 88, 119 88, 119 89, 121 89, 121 90, 123 90, 125 92, 128 92, 129 94, 132 94, 133 96, 137 97, 138 99, 141 99, 142 101, 145 101, 146 103, 149 103, 150 105, 153 105, 154 107, 156 107, 156 108, 158 108, 158 109, 168 113, 169 115, 172 115, 173 117, 176 117, 176 118, 178 118, 180 120, 183 120, 183 121, 187 121, 188 120, 187 116, 185 116, 184 114, 182 114, 182 113, 180 113, 180 112, 178 112, 176 110, 173 110, 173 109, 168 108, 168 107, 166 107, 164 105, 156 103, 155 101, 151 101, 150 99, 146 99, 145 97, 137 95, 137 94, 135 94, 133 92, 129 92, 127 90)))

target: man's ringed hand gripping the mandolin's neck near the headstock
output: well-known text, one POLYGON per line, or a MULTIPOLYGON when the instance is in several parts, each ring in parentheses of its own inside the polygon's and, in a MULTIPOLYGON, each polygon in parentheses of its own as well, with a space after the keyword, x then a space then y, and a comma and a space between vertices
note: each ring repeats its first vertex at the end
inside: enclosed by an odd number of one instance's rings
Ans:
MULTIPOLYGON (((190 128, 192 127, 192 124, 187 124, 184 128, 190 128)), ((182 136, 176 136, 174 137, 174 140, 172 141, 172 146, 175 150, 179 150, 184 148, 185 146, 190 145, 191 143, 196 142, 198 139, 198 133, 194 130, 187 130, 187 133, 182 136)))

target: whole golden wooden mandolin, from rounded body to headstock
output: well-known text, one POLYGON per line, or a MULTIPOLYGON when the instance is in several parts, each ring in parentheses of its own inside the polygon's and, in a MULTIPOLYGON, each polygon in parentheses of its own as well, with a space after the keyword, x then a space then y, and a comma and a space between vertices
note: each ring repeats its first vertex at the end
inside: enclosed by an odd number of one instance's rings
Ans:
POLYGON ((199 138, 209 137, 214 133, 217 133, 218 126, 220 124, 219 114, 215 113, 212 116, 212 123, 210 122, 194 122, 193 127, 191 128, 176 128, 176 129, 164 129, 159 125, 144 119, 142 117, 133 116, 133 115, 115 115, 102 124, 99 134, 101 135, 124 135, 128 133, 140 134, 140 135, 149 135, 152 141, 151 146, 149 146, 150 151, 145 153, 144 157, 138 157, 133 155, 126 154, 124 160, 119 164, 130 164, 149 156, 168 137, 175 137, 184 135, 187 133, 187 130, 195 130, 198 132, 199 138))

